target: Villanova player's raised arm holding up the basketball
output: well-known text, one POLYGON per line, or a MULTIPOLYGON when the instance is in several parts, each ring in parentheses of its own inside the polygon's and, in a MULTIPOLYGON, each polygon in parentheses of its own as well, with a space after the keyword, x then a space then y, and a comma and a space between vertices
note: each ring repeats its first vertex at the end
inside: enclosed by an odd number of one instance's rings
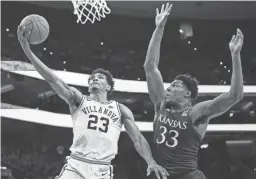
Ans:
POLYGON ((34 65, 38 73, 52 86, 55 92, 70 105, 74 104, 75 101, 79 103, 82 100, 82 93, 64 83, 32 52, 27 40, 29 32, 25 30, 25 27, 19 26, 17 35, 24 53, 34 65))

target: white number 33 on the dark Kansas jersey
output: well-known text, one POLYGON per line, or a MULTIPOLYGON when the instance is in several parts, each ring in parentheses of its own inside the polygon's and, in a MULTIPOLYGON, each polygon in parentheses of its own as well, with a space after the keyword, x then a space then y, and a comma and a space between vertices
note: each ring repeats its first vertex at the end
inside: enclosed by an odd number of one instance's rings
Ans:
POLYGON ((176 130, 167 130, 165 126, 160 126, 160 135, 156 138, 156 143, 164 143, 167 147, 176 147, 178 145, 179 132, 176 130))

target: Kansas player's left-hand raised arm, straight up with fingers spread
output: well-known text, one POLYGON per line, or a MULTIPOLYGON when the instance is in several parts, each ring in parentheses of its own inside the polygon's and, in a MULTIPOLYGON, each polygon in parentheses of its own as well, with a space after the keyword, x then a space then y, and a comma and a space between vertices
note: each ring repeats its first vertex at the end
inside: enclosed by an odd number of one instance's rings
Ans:
POLYGON ((146 60, 144 63, 144 70, 146 72, 149 96, 155 107, 161 103, 165 96, 164 83, 162 75, 158 70, 158 63, 160 58, 160 45, 163 37, 164 26, 167 17, 172 9, 172 4, 162 5, 161 11, 156 10, 156 29, 150 40, 146 60))

